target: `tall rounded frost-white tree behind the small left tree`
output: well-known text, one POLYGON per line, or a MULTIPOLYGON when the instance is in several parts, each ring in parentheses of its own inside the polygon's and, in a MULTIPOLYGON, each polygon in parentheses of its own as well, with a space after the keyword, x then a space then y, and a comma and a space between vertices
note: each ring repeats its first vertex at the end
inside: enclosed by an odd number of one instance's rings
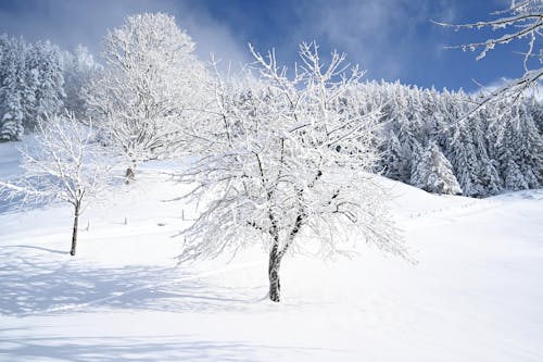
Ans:
POLYGON ((185 146, 185 128, 202 109, 205 68, 173 16, 128 16, 104 38, 103 75, 87 89, 104 138, 137 164, 185 146))

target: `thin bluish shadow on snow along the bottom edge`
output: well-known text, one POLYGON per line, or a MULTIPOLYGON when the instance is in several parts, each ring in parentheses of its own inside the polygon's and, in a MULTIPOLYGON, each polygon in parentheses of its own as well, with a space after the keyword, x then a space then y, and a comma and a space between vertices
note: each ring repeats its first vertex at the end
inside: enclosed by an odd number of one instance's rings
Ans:
MULTIPOLYGON (((182 326, 180 326, 182 329, 182 326)), ((0 329, 0 332, 2 332, 0 329)), ((4 339, 12 361, 51 358, 74 362, 113 361, 257 361, 263 355, 319 353, 326 348, 302 348, 247 341, 194 340, 188 335, 138 337, 27 337, 4 339)), ((341 352, 341 351, 334 351, 341 352)))

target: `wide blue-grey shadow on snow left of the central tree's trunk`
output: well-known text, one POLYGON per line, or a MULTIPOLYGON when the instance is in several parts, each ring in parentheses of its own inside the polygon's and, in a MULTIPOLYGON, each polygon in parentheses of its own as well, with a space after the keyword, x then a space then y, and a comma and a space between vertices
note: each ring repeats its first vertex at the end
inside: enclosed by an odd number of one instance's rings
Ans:
POLYGON ((96 308, 217 311, 240 310, 252 303, 251 296, 243 295, 243 289, 206 285, 180 267, 94 267, 74 263, 72 259, 54 260, 51 254, 28 260, 18 255, 17 249, 0 248, 3 261, 0 264, 0 315, 85 312, 96 308))

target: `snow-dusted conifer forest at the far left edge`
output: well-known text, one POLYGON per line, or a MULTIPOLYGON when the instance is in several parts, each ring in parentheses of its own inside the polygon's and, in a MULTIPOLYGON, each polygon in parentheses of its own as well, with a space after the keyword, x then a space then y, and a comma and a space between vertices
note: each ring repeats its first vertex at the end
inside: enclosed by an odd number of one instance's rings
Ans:
POLYGON ((99 70, 83 46, 68 52, 0 35, 0 141, 21 139, 38 117, 85 112, 81 87, 99 70))

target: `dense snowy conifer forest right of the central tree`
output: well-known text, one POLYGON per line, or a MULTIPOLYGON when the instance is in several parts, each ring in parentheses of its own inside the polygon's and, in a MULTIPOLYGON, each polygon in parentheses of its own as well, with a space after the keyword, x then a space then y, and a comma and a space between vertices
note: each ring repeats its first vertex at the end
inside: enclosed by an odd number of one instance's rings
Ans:
POLYGON ((383 158, 392 179, 440 194, 485 197, 543 186, 543 103, 532 97, 481 99, 400 83, 362 85, 381 105, 383 158), (458 184, 458 189, 455 184, 458 184))

